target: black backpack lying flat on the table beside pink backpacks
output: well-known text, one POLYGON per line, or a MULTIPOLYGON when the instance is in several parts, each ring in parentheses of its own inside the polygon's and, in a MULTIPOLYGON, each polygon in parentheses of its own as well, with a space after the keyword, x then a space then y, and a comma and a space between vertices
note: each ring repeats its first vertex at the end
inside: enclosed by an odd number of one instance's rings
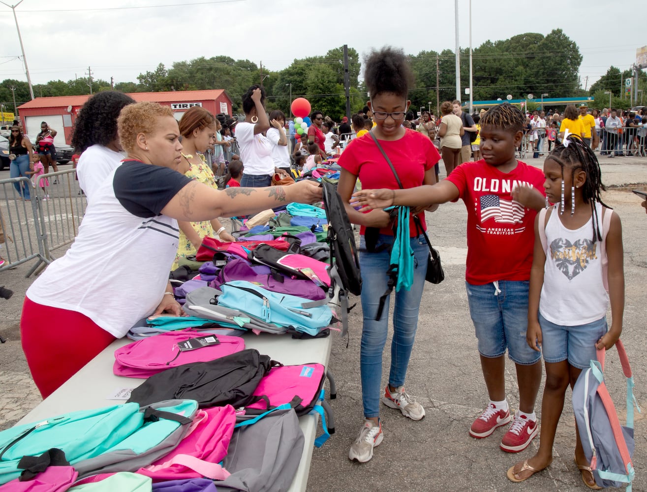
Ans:
POLYGON ((214 361, 184 364, 146 379, 131 392, 128 402, 144 406, 167 399, 194 399, 199 408, 245 407, 261 378, 275 365, 253 348, 214 361))

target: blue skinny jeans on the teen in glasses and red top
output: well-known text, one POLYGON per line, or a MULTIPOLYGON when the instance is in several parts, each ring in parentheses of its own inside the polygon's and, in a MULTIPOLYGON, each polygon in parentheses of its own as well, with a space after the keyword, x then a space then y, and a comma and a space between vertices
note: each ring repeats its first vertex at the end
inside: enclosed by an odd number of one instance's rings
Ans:
MULTIPOLYGON (((380 234, 377 247, 393 243, 393 236, 380 234)), ((404 385, 404 377, 409 366, 411 349, 418 328, 418 312, 424 288, 424 276, 427 273, 427 256, 429 247, 424 236, 411 238, 413 249, 413 285, 410 291, 401 290, 395 293, 393 311, 393 341, 391 341, 391 369, 389 385, 404 385)), ((360 237, 360 269, 362 271, 362 343, 360 346, 360 373, 362 376, 362 404, 366 418, 380 415, 380 394, 382 392, 382 353, 389 328, 389 301, 386 298, 382 319, 375 320, 380 297, 386 292, 390 252, 365 252, 364 236, 360 237)))

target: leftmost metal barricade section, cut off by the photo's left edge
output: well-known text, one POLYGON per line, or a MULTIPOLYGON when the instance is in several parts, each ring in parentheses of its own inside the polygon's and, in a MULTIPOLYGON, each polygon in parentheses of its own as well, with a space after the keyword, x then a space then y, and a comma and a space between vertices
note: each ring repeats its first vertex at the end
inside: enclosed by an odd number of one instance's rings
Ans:
POLYGON ((0 186, 0 226, 5 238, 5 247, 0 251, 5 263, 0 271, 38 259, 26 275, 29 277, 40 265, 51 262, 43 241, 45 232, 39 218, 38 198, 32 188, 32 181, 27 177, 2 179, 0 186), (28 187, 31 192, 30 201, 23 200, 16 190, 16 183, 18 186, 28 187))

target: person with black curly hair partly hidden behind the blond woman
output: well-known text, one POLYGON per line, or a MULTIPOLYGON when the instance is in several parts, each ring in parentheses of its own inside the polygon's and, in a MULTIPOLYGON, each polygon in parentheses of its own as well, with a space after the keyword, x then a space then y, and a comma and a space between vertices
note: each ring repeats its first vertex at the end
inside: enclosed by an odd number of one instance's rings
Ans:
POLYGON ((76 118, 72 147, 81 153, 76 175, 88 201, 124 159, 117 136, 117 117, 124 106, 133 102, 124 93, 102 91, 83 104, 76 118))

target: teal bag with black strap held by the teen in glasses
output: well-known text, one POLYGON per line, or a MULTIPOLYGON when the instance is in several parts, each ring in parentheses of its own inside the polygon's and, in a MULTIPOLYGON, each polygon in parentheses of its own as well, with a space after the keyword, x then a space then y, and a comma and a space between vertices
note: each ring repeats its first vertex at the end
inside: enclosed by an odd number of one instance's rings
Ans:
POLYGON ((388 207, 385 212, 391 212, 391 216, 397 215, 393 227, 393 245, 391 246, 391 257, 389 260, 389 269, 386 274, 389 280, 386 283, 386 292, 380 297, 380 304, 377 307, 375 320, 382 319, 382 312, 386 304, 386 298, 395 288, 396 292, 404 289, 411 290, 413 285, 413 249, 411 249, 411 240, 409 238, 409 207, 388 207))

